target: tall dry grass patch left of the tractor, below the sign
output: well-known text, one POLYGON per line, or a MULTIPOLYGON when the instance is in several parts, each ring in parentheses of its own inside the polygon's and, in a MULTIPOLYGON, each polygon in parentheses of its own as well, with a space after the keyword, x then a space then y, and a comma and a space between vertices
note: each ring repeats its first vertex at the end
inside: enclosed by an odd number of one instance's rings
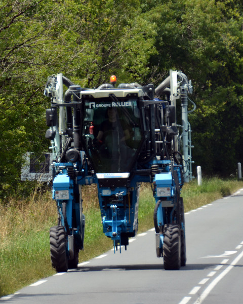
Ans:
POLYGON ((49 193, 0 205, 0 295, 54 274, 48 231, 56 217, 49 193))

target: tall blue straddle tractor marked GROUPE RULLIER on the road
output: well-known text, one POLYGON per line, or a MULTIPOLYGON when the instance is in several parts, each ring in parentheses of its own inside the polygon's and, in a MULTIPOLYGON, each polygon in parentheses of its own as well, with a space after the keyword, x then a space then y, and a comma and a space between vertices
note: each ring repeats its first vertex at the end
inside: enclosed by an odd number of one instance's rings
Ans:
POLYGON ((166 270, 179 269, 186 263, 180 191, 190 173, 187 94, 192 86, 177 71, 155 90, 152 84, 113 85, 81 88, 62 74, 52 75, 46 84, 44 94, 51 98, 46 137, 55 160, 53 199, 59 214, 58 225, 50 229, 52 264, 57 272, 77 268, 78 252, 84 249, 82 185, 97 184, 103 232, 115 252, 122 245, 127 249, 129 238, 136 236, 140 183, 149 182, 157 257, 164 257, 166 270), (177 98, 182 103, 181 135, 177 98))

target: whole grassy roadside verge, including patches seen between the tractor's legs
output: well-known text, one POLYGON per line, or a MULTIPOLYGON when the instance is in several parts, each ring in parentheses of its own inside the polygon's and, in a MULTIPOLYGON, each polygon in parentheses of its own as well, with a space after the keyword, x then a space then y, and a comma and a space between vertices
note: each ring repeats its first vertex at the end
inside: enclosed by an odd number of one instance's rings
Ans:
MULTIPOLYGON (((243 187, 242 181, 203 180, 185 184, 182 189, 185 211, 208 204, 243 187)), ((85 250, 79 262, 112 248, 103 234, 95 185, 83 187, 86 215, 85 250)), ((154 199, 150 184, 142 184, 139 202, 139 233, 153 226, 154 199)), ((31 200, 0 204, 0 296, 14 293, 23 286, 55 274, 49 249, 49 229, 57 223, 56 204, 50 193, 33 194, 31 200)))

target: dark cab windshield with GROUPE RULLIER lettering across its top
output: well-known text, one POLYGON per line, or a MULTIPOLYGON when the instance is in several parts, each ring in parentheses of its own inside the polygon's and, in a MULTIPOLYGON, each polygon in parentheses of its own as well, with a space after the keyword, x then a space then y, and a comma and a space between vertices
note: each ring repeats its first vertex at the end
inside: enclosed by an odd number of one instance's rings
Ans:
POLYGON ((83 144, 96 173, 131 170, 142 141, 137 100, 85 100, 83 144))

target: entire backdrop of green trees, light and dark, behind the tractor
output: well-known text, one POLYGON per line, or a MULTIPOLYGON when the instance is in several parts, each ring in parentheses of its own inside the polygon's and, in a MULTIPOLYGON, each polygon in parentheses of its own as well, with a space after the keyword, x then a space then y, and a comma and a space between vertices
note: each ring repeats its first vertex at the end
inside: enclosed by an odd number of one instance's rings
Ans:
POLYGON ((192 80, 193 159, 226 176, 243 158, 243 6, 239 0, 3 0, 0 4, 0 197, 24 188, 26 151, 47 151, 42 91, 74 83, 158 85, 169 69, 192 80))

